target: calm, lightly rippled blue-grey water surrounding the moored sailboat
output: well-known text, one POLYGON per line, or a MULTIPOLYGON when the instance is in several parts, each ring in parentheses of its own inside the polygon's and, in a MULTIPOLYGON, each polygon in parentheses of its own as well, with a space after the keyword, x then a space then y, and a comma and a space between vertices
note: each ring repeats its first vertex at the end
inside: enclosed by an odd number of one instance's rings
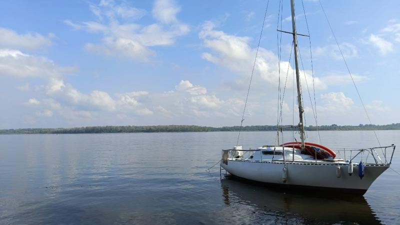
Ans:
MULTIPOLYGON (((308 132, 315 140, 315 132, 308 132)), ((333 147, 377 145, 371 131, 321 131, 333 147)), ((378 131, 400 145, 400 131, 378 131)), ((291 140, 291 133, 285 133, 291 140)), ((0 135, 0 224, 400 223, 400 175, 362 197, 304 196, 219 178, 237 132, 0 135)), ((243 147, 274 132, 243 132, 243 147)), ((400 171, 400 150, 392 167, 400 171)), ((335 178, 332 174, 332 178, 335 178)))

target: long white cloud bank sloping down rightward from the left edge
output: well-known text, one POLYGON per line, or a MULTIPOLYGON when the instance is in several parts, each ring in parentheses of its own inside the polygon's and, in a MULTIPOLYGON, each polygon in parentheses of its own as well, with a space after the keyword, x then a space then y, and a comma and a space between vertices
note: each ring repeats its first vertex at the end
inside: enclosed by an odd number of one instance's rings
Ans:
MULTIPOLYGON (((101 90, 82 93, 64 81, 64 74, 75 70, 74 67, 59 66, 45 57, 25 54, 18 50, 0 49, 0 75, 22 78, 37 77, 47 81, 47 84, 41 85, 37 88, 37 91, 43 91, 52 100, 46 100, 41 104, 41 100, 30 98, 27 102, 24 102, 26 106, 42 105, 43 109, 36 113, 37 116, 52 116, 53 110, 68 118, 78 117, 79 115, 92 116, 90 111, 114 112, 126 110, 140 115, 153 113, 135 99, 147 95, 147 91, 117 94, 118 98, 116 99, 101 90), (62 102, 62 105, 60 102, 62 102)), ((193 86, 192 91, 195 91, 197 87, 193 86)))

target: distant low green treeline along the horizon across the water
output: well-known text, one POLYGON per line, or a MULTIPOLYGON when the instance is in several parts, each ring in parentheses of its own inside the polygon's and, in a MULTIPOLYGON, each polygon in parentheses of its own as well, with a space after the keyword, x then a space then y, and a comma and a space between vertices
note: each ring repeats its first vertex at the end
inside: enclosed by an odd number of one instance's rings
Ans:
MULTIPOLYGON (((136 132, 207 132, 207 131, 238 131, 240 126, 197 126, 197 125, 154 125, 154 126, 84 126, 73 128, 22 128, 0 129, 0 134, 30 134, 30 133, 136 133, 136 132)), ((400 129, 400 123, 387 125, 359 124, 321 125, 319 130, 382 130, 400 129)), ((273 131, 276 125, 243 126, 242 131, 273 131)), ((286 128, 285 130, 290 130, 286 128)), ((316 126, 306 126, 305 130, 316 130, 316 126)))

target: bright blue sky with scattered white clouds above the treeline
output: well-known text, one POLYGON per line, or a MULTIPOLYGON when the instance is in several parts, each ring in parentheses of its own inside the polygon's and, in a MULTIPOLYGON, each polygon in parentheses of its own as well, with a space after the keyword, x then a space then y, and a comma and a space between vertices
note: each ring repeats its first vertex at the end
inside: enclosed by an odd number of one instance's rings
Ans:
MULTIPOLYGON (((400 122, 400 4, 321 3, 371 123, 400 122)), ((266 4, 2 0, 0 128, 240 125, 266 4)), ((243 125, 280 111, 298 123, 292 36, 276 31, 291 31, 289 0, 281 8, 269 1, 243 125)), ((370 123, 319 1, 295 10, 310 34, 298 36, 305 124, 370 123)))

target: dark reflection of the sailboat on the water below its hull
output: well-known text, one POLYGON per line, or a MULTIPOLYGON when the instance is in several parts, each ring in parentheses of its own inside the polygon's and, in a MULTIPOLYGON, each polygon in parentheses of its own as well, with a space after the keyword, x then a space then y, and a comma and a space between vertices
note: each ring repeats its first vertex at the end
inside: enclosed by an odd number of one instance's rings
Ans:
POLYGON ((365 198, 359 195, 285 193, 244 183, 231 175, 221 179, 221 187, 225 205, 255 206, 280 222, 381 224, 365 198))

